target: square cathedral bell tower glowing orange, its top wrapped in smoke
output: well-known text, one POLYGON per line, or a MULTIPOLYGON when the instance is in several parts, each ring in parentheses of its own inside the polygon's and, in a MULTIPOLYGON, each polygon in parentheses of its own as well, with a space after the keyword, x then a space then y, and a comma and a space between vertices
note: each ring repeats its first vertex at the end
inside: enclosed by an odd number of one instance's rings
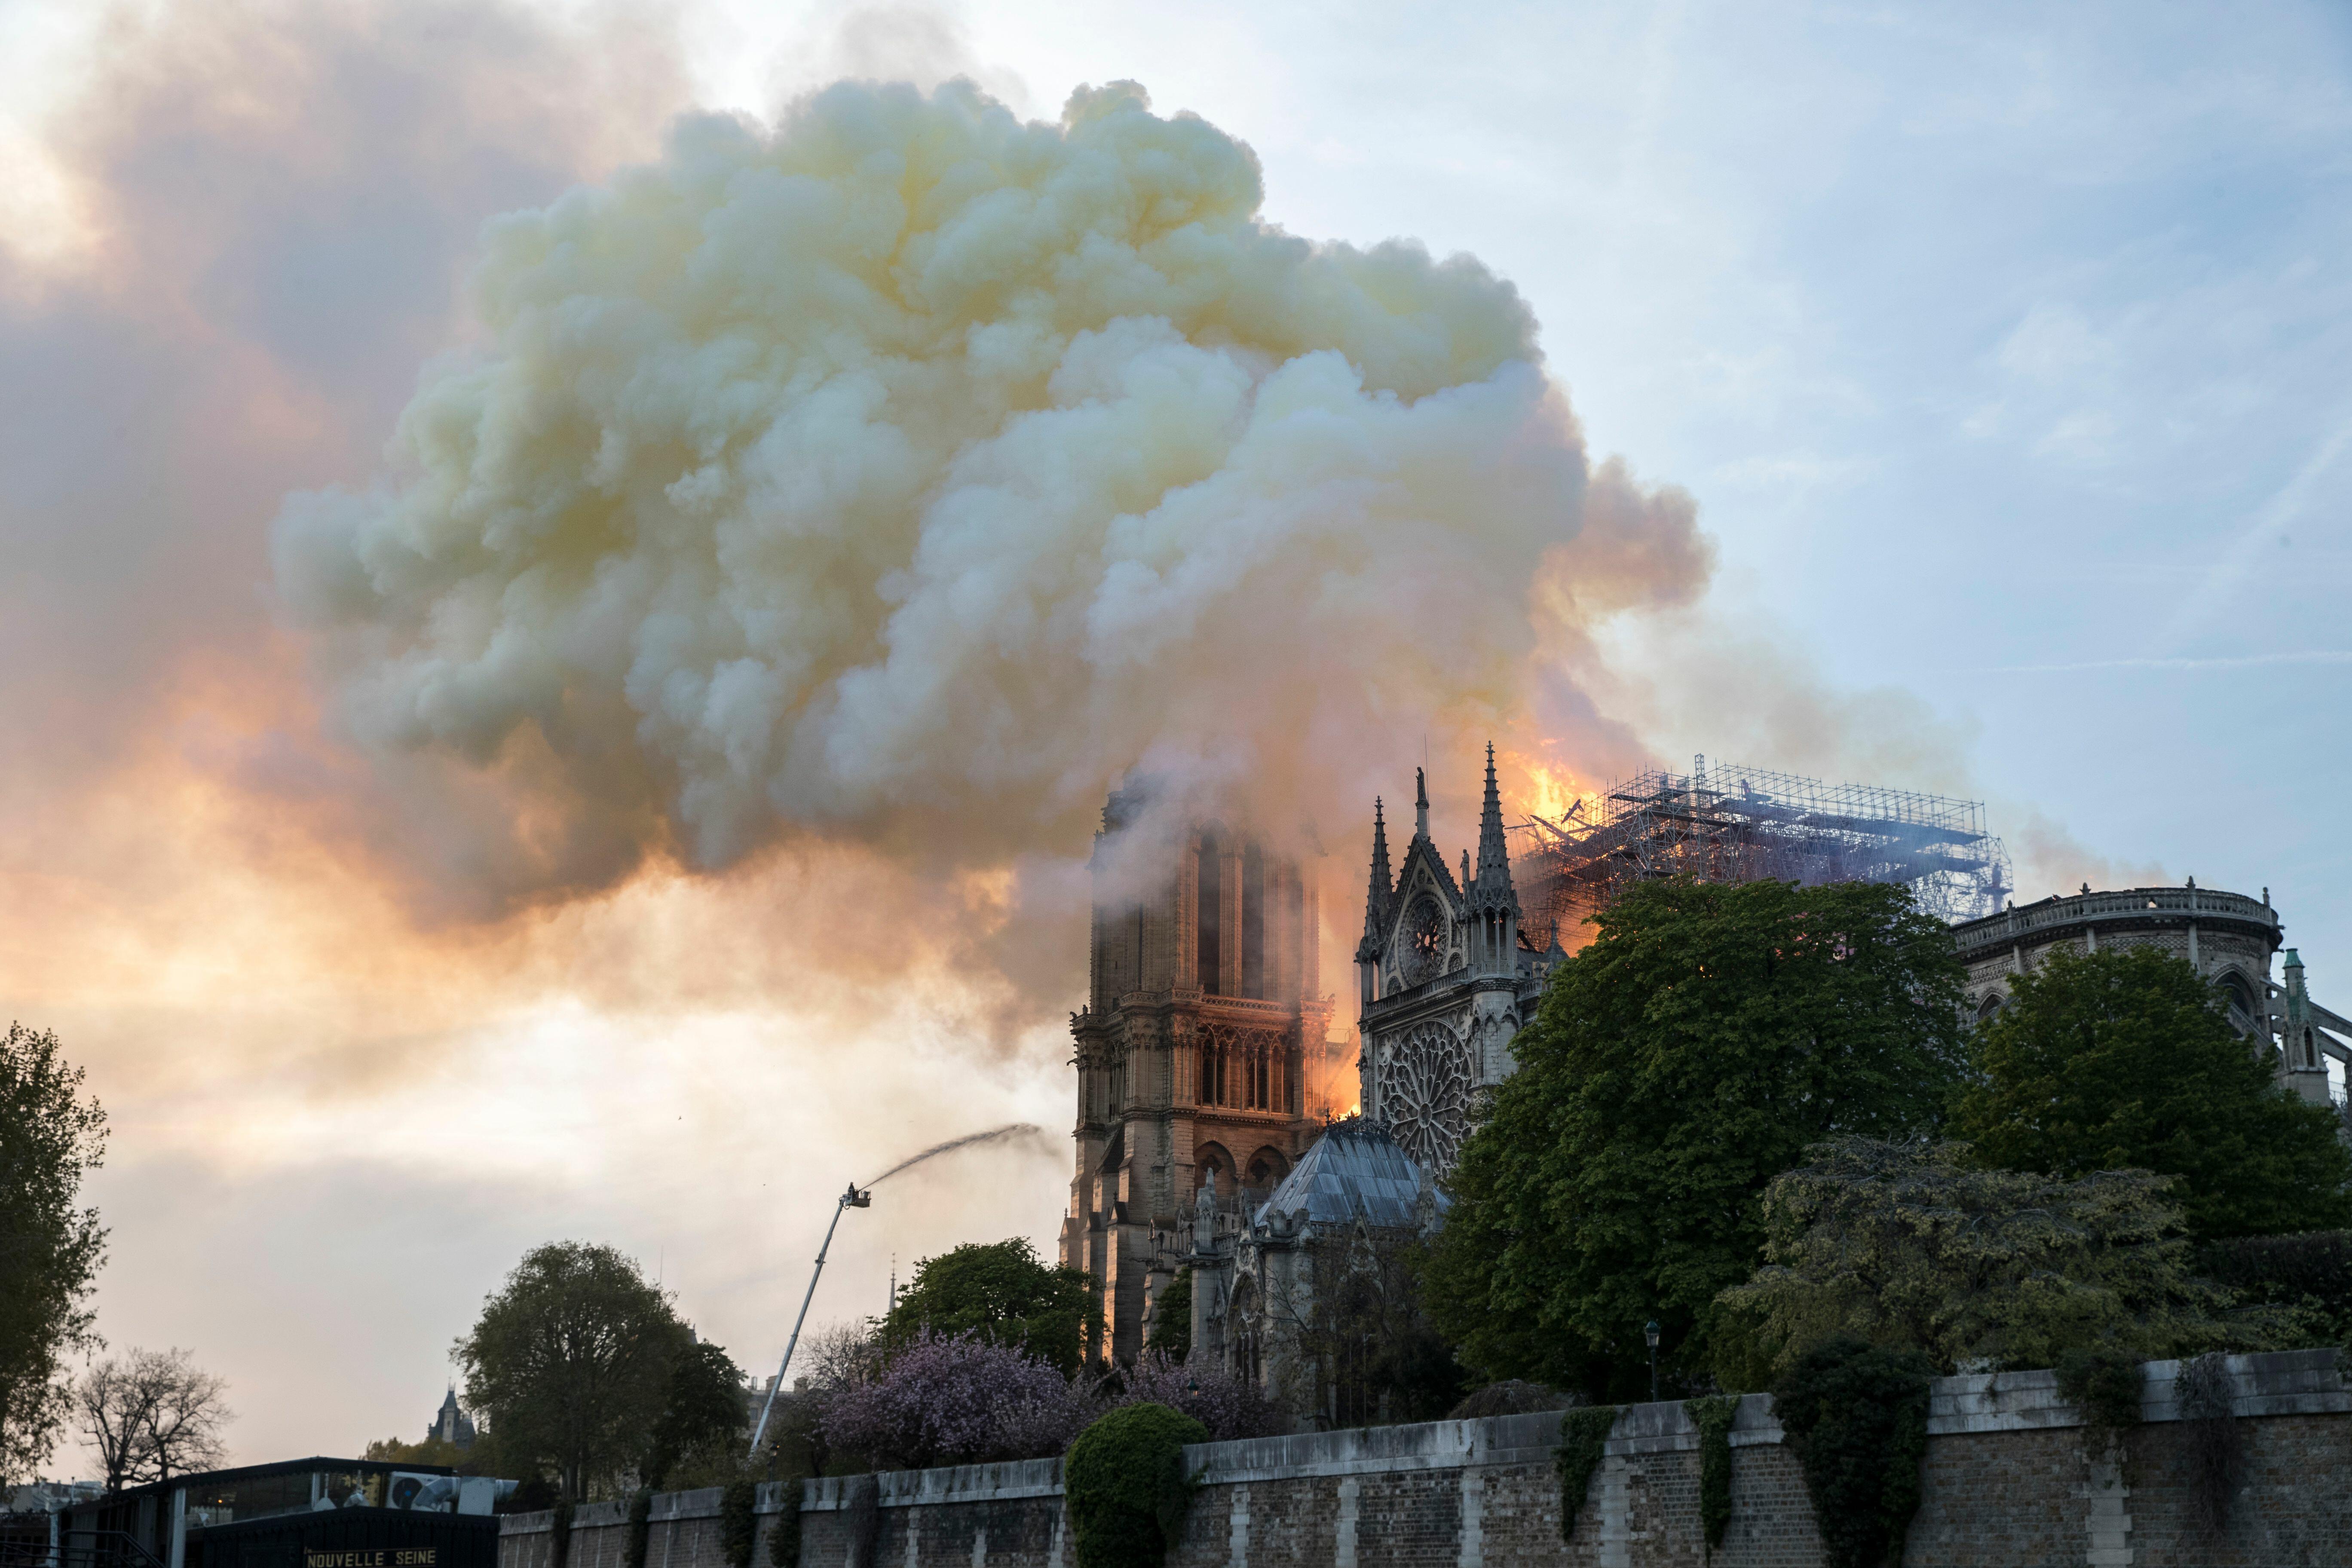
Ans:
POLYGON ((1143 1349, 1145 1300, 1190 1244, 1195 1192, 1263 1199, 1312 1143, 1305 1051, 1322 1051, 1331 1016, 1312 870, 1200 823, 1138 877, 1117 835, 1141 816, 1141 790, 1122 785, 1096 835, 1061 1227, 1061 1260, 1101 1281, 1117 1361, 1143 1349))

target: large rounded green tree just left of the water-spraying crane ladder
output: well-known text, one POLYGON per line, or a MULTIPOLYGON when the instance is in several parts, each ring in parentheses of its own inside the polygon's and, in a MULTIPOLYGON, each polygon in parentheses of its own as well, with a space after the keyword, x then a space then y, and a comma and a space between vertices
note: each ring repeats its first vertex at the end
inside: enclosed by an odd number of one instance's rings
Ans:
POLYGON ((670 1401, 687 1331, 668 1298, 609 1246, 550 1241, 524 1253, 456 1342, 466 1403, 501 1448, 555 1474, 562 1495, 616 1486, 670 1401))

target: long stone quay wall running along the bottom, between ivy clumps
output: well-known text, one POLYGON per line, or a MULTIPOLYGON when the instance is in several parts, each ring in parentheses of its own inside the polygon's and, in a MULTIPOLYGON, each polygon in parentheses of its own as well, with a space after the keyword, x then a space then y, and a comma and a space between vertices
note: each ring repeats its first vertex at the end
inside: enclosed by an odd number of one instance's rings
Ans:
MULTIPOLYGON (((2312 1568, 2352 1563, 2352 1392, 2336 1352, 2232 1356, 2241 1465, 2220 1533, 2194 1516, 2176 1361, 2140 1368, 2143 1425, 2110 1450, 2051 1373, 1940 1378, 1912 1568, 2312 1568)), ((1816 1568, 1820 1535, 1771 1399, 1731 1427, 1731 1526, 1708 1554, 1698 1432, 1679 1403, 1628 1406, 1559 1535, 1559 1415, 1308 1432, 1185 1450, 1202 1490, 1169 1568, 1816 1568)), ((781 1519, 760 1495, 760 1552, 781 1519)), ((800 1488, 802 1568, 1075 1568, 1061 1460, 828 1476, 800 1488)), ((623 1568, 626 1507, 506 1521, 499 1568, 623 1568), (604 1519, 604 1514, 612 1514, 604 1519), (583 1556, 593 1554, 593 1556, 583 1556)), ((654 1509, 647 1568, 724 1568, 717 1493, 654 1509)))

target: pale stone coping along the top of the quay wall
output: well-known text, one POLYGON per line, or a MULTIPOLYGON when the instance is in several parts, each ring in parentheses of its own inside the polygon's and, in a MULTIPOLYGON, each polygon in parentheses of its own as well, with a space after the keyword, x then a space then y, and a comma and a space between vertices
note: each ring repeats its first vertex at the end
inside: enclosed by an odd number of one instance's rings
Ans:
MULTIPOLYGON (((2336 1368, 2333 1349, 2284 1349, 2225 1361, 2237 1385, 2237 1415, 2345 1415, 2352 1387, 2336 1368)), ((2176 1382, 2180 1361, 2140 1366, 2140 1420, 2180 1420, 2176 1382)), ((1350 1427, 1345 1432, 1291 1432, 1232 1443, 1190 1443, 1185 1465, 1204 1486, 1277 1481, 1301 1476, 1359 1476, 1416 1469, 1463 1469, 1477 1465, 1550 1465, 1559 1446, 1559 1410, 1494 1415, 1486 1420, 1437 1420, 1409 1427, 1350 1427)), ((2058 1373, 1969 1373, 1938 1378, 1929 1387, 1929 1436, 1976 1432, 2034 1432, 2079 1427, 2082 1410, 2058 1396, 2058 1373)), ((1745 1394, 1731 1418, 1731 1446, 1780 1443, 1780 1422, 1769 1394, 1745 1394)), ((1609 1432, 1609 1455, 1679 1453, 1698 1448, 1698 1427, 1684 1403, 1623 1406, 1609 1432)), ((800 1483, 800 1507, 830 1512, 847 1507, 851 1483, 863 1476, 821 1476, 800 1483)), ((1009 1502, 1058 1497, 1061 1460, 1014 1460, 1004 1465, 957 1465, 943 1469, 894 1469, 875 1476, 882 1507, 934 1502, 1009 1502)), ((654 1500, 654 1519, 703 1519, 717 1514, 720 1490, 668 1493, 654 1500)), ((760 1488, 762 1514, 783 1507, 783 1483, 760 1488)), ((572 1528, 626 1523, 626 1502, 595 1502, 572 1516, 572 1528)), ((503 1535, 546 1530, 548 1514, 508 1514, 503 1535)))

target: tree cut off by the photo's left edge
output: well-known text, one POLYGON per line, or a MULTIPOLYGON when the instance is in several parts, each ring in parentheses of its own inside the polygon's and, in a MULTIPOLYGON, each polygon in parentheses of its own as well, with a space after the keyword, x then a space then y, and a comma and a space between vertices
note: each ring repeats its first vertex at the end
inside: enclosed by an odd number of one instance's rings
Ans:
POLYGON ((106 1152, 106 1112, 54 1032, 0 1037, 0 1490, 49 1458, 73 1410, 66 1356, 96 1347, 85 1305, 106 1260, 82 1171, 106 1152))

